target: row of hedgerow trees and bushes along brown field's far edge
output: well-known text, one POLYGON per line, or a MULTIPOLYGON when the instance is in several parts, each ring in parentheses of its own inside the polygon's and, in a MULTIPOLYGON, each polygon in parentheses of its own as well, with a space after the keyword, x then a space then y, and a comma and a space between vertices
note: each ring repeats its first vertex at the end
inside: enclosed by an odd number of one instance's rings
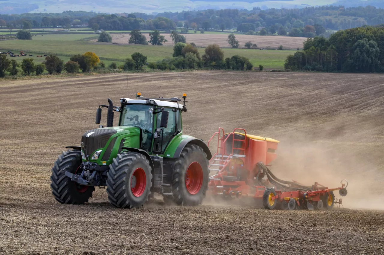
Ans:
MULTIPOLYGON (((211 44, 205 48, 205 54, 200 57, 194 43, 186 44, 178 42, 174 46, 172 57, 157 61, 147 62, 147 56, 134 52, 121 65, 112 62, 108 69, 122 71, 142 71, 147 66, 151 70, 183 70, 183 69, 230 69, 230 70, 252 70, 253 65, 247 57, 232 56, 224 58, 224 52, 217 44, 211 44)), ((23 75, 61 74, 63 71, 69 74, 80 72, 87 73, 93 70, 99 72, 106 68, 103 62, 94 52, 76 54, 71 56, 66 63, 57 56, 50 55, 45 61, 36 64, 32 58, 25 58, 21 63, 15 59, 8 59, 7 54, 0 55, 0 77, 7 75, 17 77, 23 75)), ((263 66, 259 65, 259 70, 263 66)))

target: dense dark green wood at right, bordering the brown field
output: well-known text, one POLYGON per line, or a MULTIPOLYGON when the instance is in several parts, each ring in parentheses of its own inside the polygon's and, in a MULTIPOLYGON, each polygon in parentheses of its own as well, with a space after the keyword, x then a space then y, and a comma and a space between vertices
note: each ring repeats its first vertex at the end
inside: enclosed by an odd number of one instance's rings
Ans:
POLYGON ((287 70, 384 72, 384 27, 338 31, 329 39, 309 38, 303 51, 285 60, 287 70))

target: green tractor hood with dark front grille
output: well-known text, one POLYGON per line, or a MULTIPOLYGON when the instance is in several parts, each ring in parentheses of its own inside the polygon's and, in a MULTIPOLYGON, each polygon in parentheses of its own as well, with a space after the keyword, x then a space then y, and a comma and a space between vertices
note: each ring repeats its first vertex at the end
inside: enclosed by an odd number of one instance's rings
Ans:
POLYGON ((140 129, 138 127, 103 127, 85 132, 81 137, 81 142, 84 144, 84 154, 90 157, 96 150, 104 149, 109 144, 111 144, 112 149, 116 140, 121 140, 116 139, 117 137, 129 137, 139 135, 140 129))

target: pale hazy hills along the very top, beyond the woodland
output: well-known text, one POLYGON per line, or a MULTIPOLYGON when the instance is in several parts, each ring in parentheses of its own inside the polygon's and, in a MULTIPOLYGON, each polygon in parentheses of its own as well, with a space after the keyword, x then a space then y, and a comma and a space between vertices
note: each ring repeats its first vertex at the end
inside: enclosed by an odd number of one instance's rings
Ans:
POLYGON ((372 5, 384 8, 383 0, 0 0, 0 14, 26 12, 94 11, 96 13, 159 13, 206 9, 304 8, 321 5, 357 7, 372 5))

